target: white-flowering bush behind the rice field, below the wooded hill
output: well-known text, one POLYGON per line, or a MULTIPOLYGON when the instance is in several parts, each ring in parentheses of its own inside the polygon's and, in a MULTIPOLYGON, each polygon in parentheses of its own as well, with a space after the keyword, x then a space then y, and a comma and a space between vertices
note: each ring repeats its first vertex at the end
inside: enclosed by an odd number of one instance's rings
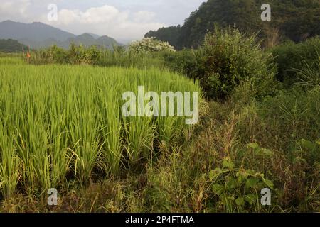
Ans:
POLYGON ((168 42, 161 42, 154 37, 143 38, 142 40, 131 43, 129 50, 133 52, 176 51, 168 42))

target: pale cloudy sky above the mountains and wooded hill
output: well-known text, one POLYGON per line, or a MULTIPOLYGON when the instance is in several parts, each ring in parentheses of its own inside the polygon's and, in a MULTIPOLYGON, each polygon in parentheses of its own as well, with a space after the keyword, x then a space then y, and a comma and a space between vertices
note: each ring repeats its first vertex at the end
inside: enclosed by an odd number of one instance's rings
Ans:
POLYGON ((183 24, 203 1, 1 0, 0 21, 40 21, 77 35, 88 32, 128 41, 142 38, 150 30, 183 24), (57 6, 57 21, 48 20, 50 4, 57 6))

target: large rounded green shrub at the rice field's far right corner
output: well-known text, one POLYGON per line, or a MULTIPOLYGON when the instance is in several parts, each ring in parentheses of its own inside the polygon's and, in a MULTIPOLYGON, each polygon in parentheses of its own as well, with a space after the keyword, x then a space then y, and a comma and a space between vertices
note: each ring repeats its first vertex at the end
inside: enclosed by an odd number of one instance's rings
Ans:
POLYGON ((225 98, 242 82, 251 85, 256 96, 274 92, 275 65, 272 56, 260 49, 255 35, 235 28, 208 33, 197 55, 201 62, 196 79, 208 98, 225 98))

